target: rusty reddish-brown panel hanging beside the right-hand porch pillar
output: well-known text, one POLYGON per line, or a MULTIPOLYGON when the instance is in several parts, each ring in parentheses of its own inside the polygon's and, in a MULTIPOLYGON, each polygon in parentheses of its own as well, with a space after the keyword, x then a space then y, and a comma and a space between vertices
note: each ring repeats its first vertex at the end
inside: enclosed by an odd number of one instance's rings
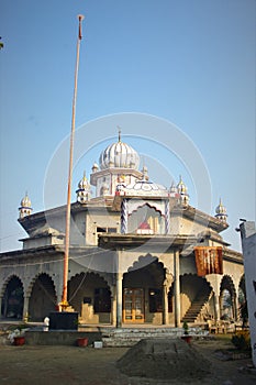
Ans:
POLYGON ((198 275, 223 274, 222 248, 197 246, 194 248, 198 275))

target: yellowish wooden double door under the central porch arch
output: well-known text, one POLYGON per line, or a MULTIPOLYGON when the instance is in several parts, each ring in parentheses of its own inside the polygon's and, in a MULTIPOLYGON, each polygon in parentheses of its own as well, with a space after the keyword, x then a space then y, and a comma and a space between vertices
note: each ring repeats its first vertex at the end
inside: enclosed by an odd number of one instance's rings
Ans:
POLYGON ((144 322, 144 289, 124 288, 123 321, 144 322))

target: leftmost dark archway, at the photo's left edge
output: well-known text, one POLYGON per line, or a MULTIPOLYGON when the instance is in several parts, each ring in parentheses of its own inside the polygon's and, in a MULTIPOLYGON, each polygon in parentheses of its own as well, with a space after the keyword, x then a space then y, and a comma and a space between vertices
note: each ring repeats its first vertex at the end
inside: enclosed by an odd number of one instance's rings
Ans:
POLYGON ((1 315, 4 318, 22 319, 23 306, 23 284, 18 276, 12 276, 4 290, 1 315))

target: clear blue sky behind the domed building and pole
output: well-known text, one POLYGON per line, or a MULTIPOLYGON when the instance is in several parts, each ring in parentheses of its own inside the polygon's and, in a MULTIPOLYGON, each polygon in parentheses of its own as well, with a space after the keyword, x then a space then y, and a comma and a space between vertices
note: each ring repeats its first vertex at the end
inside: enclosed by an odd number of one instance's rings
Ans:
POLYGON ((222 199, 240 251, 240 218, 255 221, 254 0, 2 0, 0 251, 21 248, 26 191, 33 212, 66 202, 78 14, 73 201, 120 125, 151 179, 182 175, 210 215, 222 199))

